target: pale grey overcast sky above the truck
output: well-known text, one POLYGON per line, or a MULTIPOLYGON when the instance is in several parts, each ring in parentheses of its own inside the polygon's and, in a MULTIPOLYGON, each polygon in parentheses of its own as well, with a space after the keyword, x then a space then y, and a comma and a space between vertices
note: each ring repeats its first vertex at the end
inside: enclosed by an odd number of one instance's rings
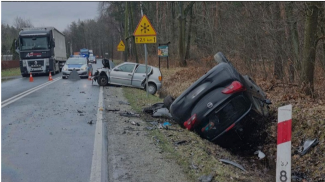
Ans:
POLYGON ((63 31, 72 21, 98 16, 98 2, 0 2, 0 19, 13 25, 16 16, 30 19, 35 27, 63 31))

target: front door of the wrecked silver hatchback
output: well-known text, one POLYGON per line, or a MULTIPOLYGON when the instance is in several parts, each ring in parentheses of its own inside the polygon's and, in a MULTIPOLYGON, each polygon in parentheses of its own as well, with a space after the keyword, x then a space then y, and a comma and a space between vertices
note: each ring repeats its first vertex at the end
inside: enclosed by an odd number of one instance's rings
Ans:
POLYGON ((125 63, 115 67, 110 72, 110 83, 118 85, 131 85, 131 79, 136 64, 125 63))

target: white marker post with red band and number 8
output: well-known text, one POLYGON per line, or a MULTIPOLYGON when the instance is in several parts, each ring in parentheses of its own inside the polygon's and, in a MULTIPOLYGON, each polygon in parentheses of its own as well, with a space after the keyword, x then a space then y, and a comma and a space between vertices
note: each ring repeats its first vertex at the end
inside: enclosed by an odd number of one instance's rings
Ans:
POLYGON ((278 108, 278 147, 276 182, 291 182, 292 105, 278 108))

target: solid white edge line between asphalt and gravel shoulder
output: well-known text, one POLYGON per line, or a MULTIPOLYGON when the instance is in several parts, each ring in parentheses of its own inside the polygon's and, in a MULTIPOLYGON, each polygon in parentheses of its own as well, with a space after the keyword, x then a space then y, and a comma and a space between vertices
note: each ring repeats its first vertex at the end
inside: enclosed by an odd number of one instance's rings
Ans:
POLYGON ((101 161, 102 161, 102 141, 103 141, 103 87, 100 86, 98 111, 95 131, 95 143, 93 151, 93 160, 91 163, 90 182, 101 182, 101 161))

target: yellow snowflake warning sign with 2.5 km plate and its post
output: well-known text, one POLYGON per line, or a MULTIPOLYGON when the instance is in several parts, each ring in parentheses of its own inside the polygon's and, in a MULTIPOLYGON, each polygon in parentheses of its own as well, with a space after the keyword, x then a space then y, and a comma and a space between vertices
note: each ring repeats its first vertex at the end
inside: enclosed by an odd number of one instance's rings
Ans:
POLYGON ((145 51, 145 62, 146 62, 146 90, 148 97, 148 59, 147 59, 147 43, 156 43, 157 42, 157 33, 156 30, 152 27, 148 17, 143 14, 142 10, 142 2, 140 2, 141 7, 141 19, 136 26, 136 30, 134 30, 133 35, 136 38, 136 43, 144 43, 144 51, 145 51))

